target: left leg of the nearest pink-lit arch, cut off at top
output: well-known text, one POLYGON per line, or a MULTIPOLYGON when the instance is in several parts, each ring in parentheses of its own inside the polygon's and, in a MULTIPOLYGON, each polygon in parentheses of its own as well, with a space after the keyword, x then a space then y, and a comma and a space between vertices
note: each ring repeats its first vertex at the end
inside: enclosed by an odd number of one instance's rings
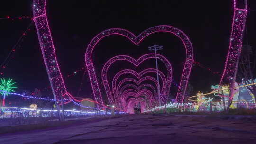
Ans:
POLYGON ((67 94, 67 90, 57 62, 55 47, 46 16, 46 0, 34 0, 32 7, 34 16, 33 20, 37 28, 39 44, 52 91, 55 99, 60 99, 61 96, 67 94))

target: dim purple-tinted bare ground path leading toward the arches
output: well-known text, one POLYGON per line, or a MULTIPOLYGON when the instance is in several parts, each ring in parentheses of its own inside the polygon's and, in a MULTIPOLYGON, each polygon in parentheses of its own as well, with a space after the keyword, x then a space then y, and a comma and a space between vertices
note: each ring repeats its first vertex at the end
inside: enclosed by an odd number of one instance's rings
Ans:
POLYGON ((0 135, 0 144, 256 144, 256 122, 129 115, 78 126, 0 135))

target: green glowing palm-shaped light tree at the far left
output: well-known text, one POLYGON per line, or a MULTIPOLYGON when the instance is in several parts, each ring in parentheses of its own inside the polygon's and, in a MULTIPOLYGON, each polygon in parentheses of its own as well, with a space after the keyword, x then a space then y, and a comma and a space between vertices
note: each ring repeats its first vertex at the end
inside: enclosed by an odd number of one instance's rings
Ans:
POLYGON ((12 79, 8 79, 7 81, 4 78, 1 78, 0 82, 0 94, 3 96, 3 106, 5 106, 5 96, 9 95, 10 92, 14 92, 13 86, 16 82, 12 82, 12 79))

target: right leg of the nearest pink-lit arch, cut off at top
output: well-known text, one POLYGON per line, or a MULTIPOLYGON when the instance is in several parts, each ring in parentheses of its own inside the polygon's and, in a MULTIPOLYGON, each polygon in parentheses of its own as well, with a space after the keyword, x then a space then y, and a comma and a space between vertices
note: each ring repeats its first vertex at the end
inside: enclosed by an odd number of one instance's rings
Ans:
POLYGON ((229 42, 229 51, 225 62, 224 71, 221 76, 219 85, 223 83, 230 85, 230 97, 233 97, 233 88, 238 70, 238 62, 243 43, 243 32, 247 18, 247 0, 233 0, 234 14, 229 42))

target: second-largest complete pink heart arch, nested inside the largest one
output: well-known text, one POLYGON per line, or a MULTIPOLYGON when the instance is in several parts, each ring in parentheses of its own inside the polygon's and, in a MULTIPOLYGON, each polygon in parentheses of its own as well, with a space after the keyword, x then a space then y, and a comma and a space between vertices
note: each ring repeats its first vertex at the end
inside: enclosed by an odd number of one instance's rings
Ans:
MULTIPOLYGON (((102 78, 102 81, 103 81, 103 84, 104 84, 104 87, 105 87, 105 90, 106 90, 107 97, 108 97, 109 101, 110 102, 115 102, 114 101, 114 97, 112 96, 112 93, 111 93, 111 90, 110 90, 109 82, 107 81, 107 72, 108 72, 109 67, 113 63, 115 63, 116 61, 128 61, 128 62, 132 63, 133 65, 135 65, 136 67, 138 67, 141 63, 143 63, 144 61, 146 61, 148 59, 155 59, 155 56, 157 56, 157 59, 162 61, 165 64, 165 66, 166 66, 166 69, 167 69, 167 79, 166 79, 166 82, 167 82, 167 85, 168 85, 168 89, 167 90, 169 90, 170 89, 170 85, 171 85, 171 81, 172 81, 172 66, 171 66, 170 62, 164 56, 162 56, 160 54, 145 54, 145 55, 139 57, 137 60, 135 60, 134 58, 132 58, 130 56, 127 56, 127 55, 118 55, 118 56, 110 58, 105 63, 105 65, 103 66, 103 69, 102 69, 102 72, 101 72, 102 73, 101 74, 101 78, 102 78)), ((152 70, 153 69, 147 69, 146 71, 143 71, 140 74, 143 74, 143 73, 146 73, 146 72, 150 72, 152 70)), ((136 75, 136 73, 135 73, 135 75, 136 75)), ((139 74, 137 74, 137 76, 139 76, 139 74)), ((114 88, 113 88, 113 91, 115 91, 114 88)), ((117 100, 117 99, 115 99, 115 100, 117 100)), ((115 102, 115 103, 117 105, 118 102, 115 102)))

